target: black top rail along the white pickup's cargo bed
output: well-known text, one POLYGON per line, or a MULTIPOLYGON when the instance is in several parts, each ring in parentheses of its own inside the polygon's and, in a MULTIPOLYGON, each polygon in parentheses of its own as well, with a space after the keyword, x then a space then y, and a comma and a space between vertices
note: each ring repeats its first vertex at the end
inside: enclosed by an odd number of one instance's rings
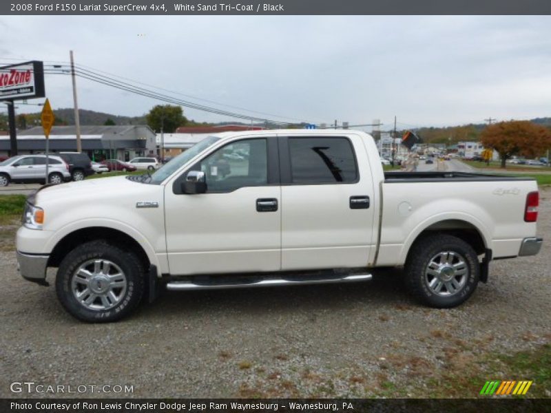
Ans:
POLYGON ((384 173, 384 182, 488 182, 510 180, 534 180, 530 176, 504 176, 490 173, 454 172, 454 171, 430 171, 430 172, 399 172, 384 173))

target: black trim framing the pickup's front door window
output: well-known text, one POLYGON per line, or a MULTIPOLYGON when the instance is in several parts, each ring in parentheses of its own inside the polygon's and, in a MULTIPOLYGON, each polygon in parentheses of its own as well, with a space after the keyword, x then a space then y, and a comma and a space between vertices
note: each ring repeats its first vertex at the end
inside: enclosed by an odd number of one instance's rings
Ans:
POLYGON ((278 146, 278 137, 277 136, 247 136, 247 138, 242 139, 236 139, 231 140, 227 143, 225 143, 222 146, 216 147, 216 149, 213 149, 212 151, 209 151, 205 156, 200 158, 197 162, 194 163, 194 165, 191 165, 191 167, 187 168, 178 178, 174 180, 174 183, 172 184, 172 192, 176 195, 183 195, 182 188, 181 188, 181 182, 185 180, 185 177, 187 176, 187 173, 189 171, 194 170, 194 168, 203 160, 211 156, 216 151, 220 151, 227 147, 228 145, 233 145, 234 143, 238 142, 245 142, 246 140, 258 140, 258 139, 264 139, 266 141, 266 151, 267 151, 267 168, 268 168, 268 176, 267 176, 267 184, 257 184, 257 185, 245 185, 243 187, 239 187, 236 189, 232 189, 231 191, 207 191, 203 195, 208 195, 209 193, 232 193, 234 191, 237 191, 241 188, 249 188, 249 187, 273 187, 273 186, 279 186, 281 182, 280 178, 280 160, 279 160, 279 146, 278 146))

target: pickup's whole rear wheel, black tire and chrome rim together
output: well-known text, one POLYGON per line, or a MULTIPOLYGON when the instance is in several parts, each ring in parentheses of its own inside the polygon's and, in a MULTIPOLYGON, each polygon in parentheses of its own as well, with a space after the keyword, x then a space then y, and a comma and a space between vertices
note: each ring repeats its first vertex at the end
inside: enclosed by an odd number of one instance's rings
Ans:
POLYGON ((464 240, 435 234, 413 244, 405 273, 410 292, 423 304, 452 308, 464 303, 475 292, 480 265, 477 253, 464 240))

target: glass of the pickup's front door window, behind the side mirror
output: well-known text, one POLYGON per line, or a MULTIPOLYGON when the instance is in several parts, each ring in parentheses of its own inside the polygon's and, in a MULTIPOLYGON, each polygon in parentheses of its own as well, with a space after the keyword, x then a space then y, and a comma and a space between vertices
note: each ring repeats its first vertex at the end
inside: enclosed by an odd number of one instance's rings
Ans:
POLYGON ((231 192, 268 183, 265 139, 233 142, 211 153, 193 169, 205 173, 207 192, 231 192))

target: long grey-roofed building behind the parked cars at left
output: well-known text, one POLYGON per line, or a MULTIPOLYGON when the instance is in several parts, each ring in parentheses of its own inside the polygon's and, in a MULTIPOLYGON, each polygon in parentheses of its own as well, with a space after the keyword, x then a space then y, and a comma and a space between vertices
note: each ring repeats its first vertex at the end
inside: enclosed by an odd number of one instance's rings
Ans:
MULTIPOLYGON (((50 153, 76 151, 74 126, 54 126, 50 131, 50 153)), ((82 151, 92 160, 130 160, 136 156, 156 155, 155 133, 148 126, 81 126, 82 151)), ((17 132, 19 154, 43 153, 42 127, 17 132)), ((0 156, 8 156, 10 137, 0 136, 0 156)))

